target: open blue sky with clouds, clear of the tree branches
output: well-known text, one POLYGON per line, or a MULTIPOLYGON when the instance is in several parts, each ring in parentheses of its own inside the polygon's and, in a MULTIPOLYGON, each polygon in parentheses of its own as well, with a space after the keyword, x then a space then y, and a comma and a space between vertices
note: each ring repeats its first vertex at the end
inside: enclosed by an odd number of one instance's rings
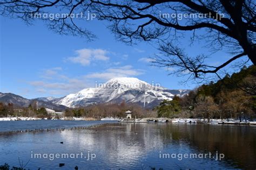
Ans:
MULTIPOLYGON (((146 42, 128 46, 114 39, 106 23, 84 21, 97 39, 61 36, 49 30, 43 22, 28 26, 18 19, 1 17, 1 83, 0 91, 26 98, 55 96, 95 87, 111 77, 137 77, 140 80, 160 83, 169 89, 192 89, 198 84, 180 84, 184 77, 168 75, 164 68, 150 66, 150 56, 157 49, 146 42)), ((197 55, 207 52, 197 44, 188 46, 189 37, 180 45, 186 52, 197 55)), ((226 60, 225 53, 216 53, 217 64, 226 60)))

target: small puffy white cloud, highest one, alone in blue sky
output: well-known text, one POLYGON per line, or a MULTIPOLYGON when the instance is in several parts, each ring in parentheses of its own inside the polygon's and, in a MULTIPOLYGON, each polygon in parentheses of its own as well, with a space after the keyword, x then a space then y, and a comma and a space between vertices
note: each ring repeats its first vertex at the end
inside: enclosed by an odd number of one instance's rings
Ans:
POLYGON ((73 63, 80 63, 82 66, 90 65, 93 60, 106 61, 109 60, 109 56, 106 56, 108 51, 104 49, 79 49, 76 52, 76 56, 71 56, 67 60, 73 63))

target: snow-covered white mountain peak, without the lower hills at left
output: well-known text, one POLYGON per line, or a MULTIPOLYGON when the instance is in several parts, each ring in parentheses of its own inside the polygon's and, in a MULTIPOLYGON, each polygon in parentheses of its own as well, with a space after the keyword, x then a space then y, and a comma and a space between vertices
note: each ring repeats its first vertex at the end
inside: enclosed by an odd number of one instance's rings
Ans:
POLYGON ((120 77, 99 84, 96 88, 87 88, 70 94, 53 103, 66 107, 84 107, 97 103, 137 103, 152 108, 163 100, 172 100, 174 95, 186 95, 189 90, 169 90, 163 87, 154 87, 151 84, 133 77, 120 77))

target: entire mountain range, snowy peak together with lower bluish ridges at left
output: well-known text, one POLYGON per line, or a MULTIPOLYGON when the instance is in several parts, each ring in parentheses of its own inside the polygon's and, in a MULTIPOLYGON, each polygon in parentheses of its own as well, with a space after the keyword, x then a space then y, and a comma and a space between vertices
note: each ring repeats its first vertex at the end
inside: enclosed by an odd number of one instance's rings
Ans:
POLYGON ((145 108, 153 108, 163 100, 172 100, 177 96, 184 96, 190 90, 170 90, 161 86, 153 86, 134 77, 118 77, 97 84, 95 88, 85 88, 77 93, 64 97, 38 97, 27 99, 12 93, 0 93, 0 102, 14 103, 18 107, 28 107, 35 103, 38 107, 53 110, 65 110, 66 108, 86 107, 101 103, 136 103, 145 108))

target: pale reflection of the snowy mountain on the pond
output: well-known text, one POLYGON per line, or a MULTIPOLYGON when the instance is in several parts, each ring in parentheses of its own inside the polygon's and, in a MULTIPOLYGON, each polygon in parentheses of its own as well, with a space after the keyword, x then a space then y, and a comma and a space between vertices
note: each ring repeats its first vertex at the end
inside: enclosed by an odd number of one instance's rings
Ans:
POLYGON ((103 162, 110 165, 112 162, 122 167, 136 165, 139 159, 146 157, 147 152, 163 147, 158 130, 152 126, 154 125, 104 124, 98 128, 80 130, 79 133, 64 131, 61 134, 68 145, 76 143, 81 151, 90 150, 97 153, 98 158, 106 159, 103 162))

